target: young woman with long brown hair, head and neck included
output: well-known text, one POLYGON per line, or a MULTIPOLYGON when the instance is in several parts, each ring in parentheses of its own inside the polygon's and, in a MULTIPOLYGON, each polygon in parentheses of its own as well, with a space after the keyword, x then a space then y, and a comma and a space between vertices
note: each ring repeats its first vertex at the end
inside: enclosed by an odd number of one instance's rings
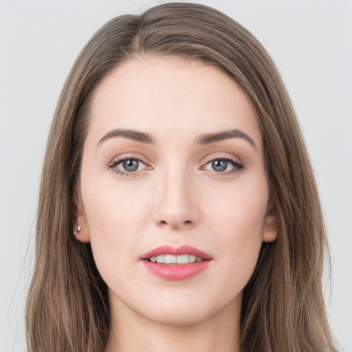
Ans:
POLYGON ((29 351, 336 351, 307 151, 261 44, 212 8, 109 21, 63 88, 29 351))

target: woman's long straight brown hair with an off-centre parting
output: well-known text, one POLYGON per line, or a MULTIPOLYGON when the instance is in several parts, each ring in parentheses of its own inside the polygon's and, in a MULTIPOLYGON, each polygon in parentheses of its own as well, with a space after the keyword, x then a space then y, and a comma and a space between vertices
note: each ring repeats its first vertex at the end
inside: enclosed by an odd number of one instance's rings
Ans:
POLYGON ((336 351, 321 287, 327 239, 292 103, 261 43, 225 14, 195 3, 166 3, 112 19, 69 73, 43 164, 26 309, 28 351, 104 351, 110 322, 107 286, 89 243, 72 235, 74 192, 94 89, 123 61, 148 54, 218 67, 241 87, 258 116, 279 229, 276 241, 263 243, 245 287, 242 351, 336 351))

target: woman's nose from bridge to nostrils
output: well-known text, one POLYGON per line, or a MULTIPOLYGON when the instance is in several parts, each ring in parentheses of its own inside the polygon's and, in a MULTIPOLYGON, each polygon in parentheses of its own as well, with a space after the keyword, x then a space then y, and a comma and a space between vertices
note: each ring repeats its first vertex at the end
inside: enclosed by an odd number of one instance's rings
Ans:
POLYGON ((159 227, 185 230, 197 225, 197 197, 186 171, 164 175, 157 188, 153 221, 159 227))

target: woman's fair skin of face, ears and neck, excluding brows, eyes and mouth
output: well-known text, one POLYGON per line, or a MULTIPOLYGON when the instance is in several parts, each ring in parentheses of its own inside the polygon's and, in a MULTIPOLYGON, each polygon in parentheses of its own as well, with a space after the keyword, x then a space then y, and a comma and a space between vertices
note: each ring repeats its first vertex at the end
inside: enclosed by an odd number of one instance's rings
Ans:
POLYGON ((91 242, 109 287, 107 351, 238 351, 242 291, 261 243, 276 239, 276 219, 261 130, 236 83, 197 61, 123 63, 94 93, 78 186, 76 238, 91 242), (155 144, 102 140, 113 129, 149 133, 155 144), (233 129, 255 146, 243 137, 196 142, 233 129), (126 175, 119 157, 143 163, 126 175), (214 170, 212 160, 224 158, 235 164, 214 170), (166 281, 140 261, 160 245, 191 245, 212 261, 192 278, 166 281))

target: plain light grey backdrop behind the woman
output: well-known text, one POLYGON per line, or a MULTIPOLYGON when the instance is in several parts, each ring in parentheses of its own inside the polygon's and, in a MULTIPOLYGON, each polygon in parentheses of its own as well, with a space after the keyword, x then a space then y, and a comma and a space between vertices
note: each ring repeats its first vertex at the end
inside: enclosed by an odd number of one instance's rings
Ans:
MULTIPOLYGON (((352 352, 352 1, 199 2, 230 15, 263 43, 292 96, 329 232, 331 327, 342 351, 352 352)), ((69 69, 106 21, 159 3, 0 0, 1 352, 25 351, 23 309, 43 149, 69 69)))

